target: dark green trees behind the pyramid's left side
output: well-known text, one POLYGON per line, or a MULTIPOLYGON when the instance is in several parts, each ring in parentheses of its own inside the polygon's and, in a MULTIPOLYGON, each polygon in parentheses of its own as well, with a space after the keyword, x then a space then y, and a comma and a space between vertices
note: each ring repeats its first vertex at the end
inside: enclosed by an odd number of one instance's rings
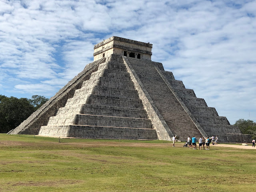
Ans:
POLYGON ((0 133, 16 128, 48 100, 40 95, 31 99, 0 95, 0 133))

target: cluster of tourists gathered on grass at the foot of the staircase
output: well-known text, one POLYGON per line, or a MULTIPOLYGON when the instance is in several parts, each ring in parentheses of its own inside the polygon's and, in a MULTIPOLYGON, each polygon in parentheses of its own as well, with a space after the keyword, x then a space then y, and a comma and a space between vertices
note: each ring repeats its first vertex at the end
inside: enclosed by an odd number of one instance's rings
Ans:
MULTIPOLYGON (((212 144, 217 144, 218 143, 218 136, 216 135, 216 137, 214 138, 214 136, 212 136, 212 144), (215 139, 215 142, 214 142, 215 139)), ((202 150, 202 146, 204 148, 204 150, 210 150, 210 138, 206 137, 206 138, 202 138, 200 137, 198 139, 198 144, 199 144, 199 150, 202 150), (205 148, 205 144, 206 144, 206 148, 205 148)), ((196 150, 196 137, 193 136, 192 138, 190 136, 188 136, 188 140, 187 143, 189 145, 189 149, 194 149, 196 150)))

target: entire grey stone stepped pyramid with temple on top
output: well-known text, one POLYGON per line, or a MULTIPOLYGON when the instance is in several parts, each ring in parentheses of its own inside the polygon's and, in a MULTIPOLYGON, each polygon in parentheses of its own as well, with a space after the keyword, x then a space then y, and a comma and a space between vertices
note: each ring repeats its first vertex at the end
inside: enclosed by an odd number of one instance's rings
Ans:
POLYGON ((94 46, 94 62, 8 134, 171 140, 219 136, 250 142, 162 64, 152 44, 113 36, 94 46))

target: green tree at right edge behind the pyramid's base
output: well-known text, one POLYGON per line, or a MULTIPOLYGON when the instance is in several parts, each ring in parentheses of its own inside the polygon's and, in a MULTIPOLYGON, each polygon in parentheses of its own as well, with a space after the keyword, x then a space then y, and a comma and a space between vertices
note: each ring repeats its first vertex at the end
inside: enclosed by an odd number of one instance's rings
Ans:
POLYGON ((242 134, 250 134, 252 138, 256 138, 256 123, 252 120, 239 119, 234 125, 238 126, 242 134))

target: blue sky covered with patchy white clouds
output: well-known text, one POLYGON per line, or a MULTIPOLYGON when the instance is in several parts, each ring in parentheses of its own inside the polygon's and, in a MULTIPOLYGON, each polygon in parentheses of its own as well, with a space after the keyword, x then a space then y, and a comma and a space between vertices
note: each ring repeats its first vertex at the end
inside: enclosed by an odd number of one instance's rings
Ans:
POLYGON ((0 0, 0 94, 54 96, 119 36, 230 124, 256 122, 256 0, 0 0))

